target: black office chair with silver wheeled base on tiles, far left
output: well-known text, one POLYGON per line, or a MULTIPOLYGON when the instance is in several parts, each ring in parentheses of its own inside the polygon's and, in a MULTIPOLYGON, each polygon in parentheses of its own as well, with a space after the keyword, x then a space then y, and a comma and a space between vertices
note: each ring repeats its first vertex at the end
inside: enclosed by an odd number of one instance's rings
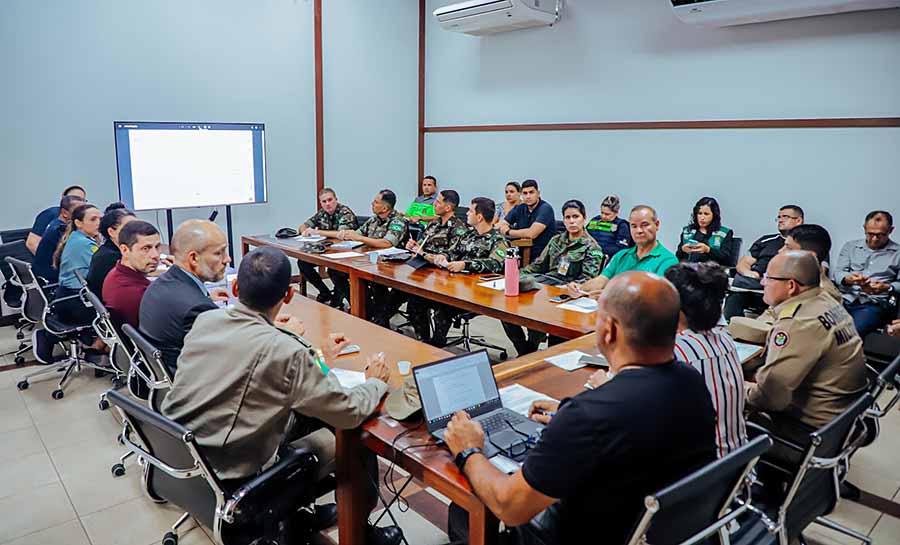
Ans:
MULTIPOLYGON (((61 345, 68 353, 68 357, 54 361, 53 363, 45 365, 40 371, 26 375, 18 384, 16 384, 16 387, 18 387, 19 390, 27 390, 31 379, 62 371, 63 376, 59 380, 59 385, 51 394, 53 399, 62 399, 65 395, 65 387, 69 382, 69 379, 73 374, 80 373, 82 368, 88 367, 94 369, 94 371, 108 372, 110 370, 109 367, 97 365, 84 358, 84 350, 81 347, 79 338, 83 333, 92 329, 91 324, 73 326, 61 321, 56 316, 57 304, 75 299, 81 300, 84 303, 82 294, 79 293, 68 297, 60 297, 53 302, 50 302, 47 299, 47 295, 44 293, 43 287, 31 272, 30 264, 13 257, 7 257, 6 261, 12 267, 13 273, 25 290, 23 315, 27 316, 30 320, 39 320, 39 324, 48 333, 45 337, 48 339, 48 342, 61 345)), ((37 349, 37 347, 34 348, 37 349)))

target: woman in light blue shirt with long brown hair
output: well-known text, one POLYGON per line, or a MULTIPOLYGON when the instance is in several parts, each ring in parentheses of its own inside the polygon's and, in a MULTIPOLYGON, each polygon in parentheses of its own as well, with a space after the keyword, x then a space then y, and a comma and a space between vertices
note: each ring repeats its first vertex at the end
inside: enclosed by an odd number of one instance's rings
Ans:
MULTIPOLYGON (((75 295, 81 290, 82 285, 75 272, 87 278, 91 258, 100 246, 100 216, 100 210, 92 204, 83 204, 72 211, 66 232, 53 255, 53 263, 59 269, 57 299, 75 295)), ((78 298, 65 301, 57 310, 60 320, 67 324, 88 324, 94 318, 93 310, 84 306, 78 298)))

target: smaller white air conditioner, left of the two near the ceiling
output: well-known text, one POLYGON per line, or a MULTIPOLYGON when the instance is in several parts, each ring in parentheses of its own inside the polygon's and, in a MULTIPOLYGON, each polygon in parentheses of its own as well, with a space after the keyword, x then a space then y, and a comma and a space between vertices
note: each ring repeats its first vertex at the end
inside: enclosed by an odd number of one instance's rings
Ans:
POLYGON ((441 27, 473 36, 550 26, 559 20, 560 0, 471 0, 434 10, 441 27))

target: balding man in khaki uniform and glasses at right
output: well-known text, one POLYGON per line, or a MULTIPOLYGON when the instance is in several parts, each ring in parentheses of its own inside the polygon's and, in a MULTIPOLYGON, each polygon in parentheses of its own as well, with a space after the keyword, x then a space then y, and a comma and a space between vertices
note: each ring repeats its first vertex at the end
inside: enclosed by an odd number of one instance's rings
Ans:
POLYGON ((799 444, 866 388, 862 339, 841 303, 819 287, 820 274, 812 252, 791 250, 769 262, 763 299, 777 319, 765 363, 747 386, 747 406, 766 413, 754 420, 799 444))

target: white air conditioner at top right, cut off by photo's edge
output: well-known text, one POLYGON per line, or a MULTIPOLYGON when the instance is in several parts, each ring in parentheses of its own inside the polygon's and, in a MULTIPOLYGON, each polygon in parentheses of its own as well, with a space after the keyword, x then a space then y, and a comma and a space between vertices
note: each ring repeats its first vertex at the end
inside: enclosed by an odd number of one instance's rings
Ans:
POLYGON ((900 0, 671 0, 675 15, 685 23, 732 26, 900 7, 900 0))

